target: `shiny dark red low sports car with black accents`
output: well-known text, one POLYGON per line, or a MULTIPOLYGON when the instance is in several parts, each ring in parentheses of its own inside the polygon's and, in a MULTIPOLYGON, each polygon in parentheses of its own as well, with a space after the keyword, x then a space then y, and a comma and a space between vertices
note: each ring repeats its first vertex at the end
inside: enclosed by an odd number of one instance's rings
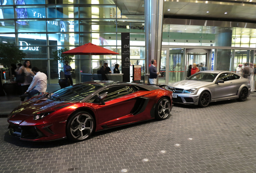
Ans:
POLYGON ((172 107, 172 91, 165 85, 83 82, 23 103, 8 116, 8 128, 27 141, 83 141, 95 131, 167 119, 172 107))

